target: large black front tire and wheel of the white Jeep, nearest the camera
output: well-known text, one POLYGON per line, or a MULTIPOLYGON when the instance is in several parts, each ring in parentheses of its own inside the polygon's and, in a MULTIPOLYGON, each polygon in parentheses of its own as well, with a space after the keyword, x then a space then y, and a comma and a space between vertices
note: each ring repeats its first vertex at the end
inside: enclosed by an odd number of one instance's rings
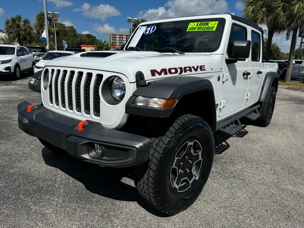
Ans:
POLYGON ((149 161, 134 168, 136 189, 156 210, 177 214, 201 193, 213 155, 214 137, 209 124, 198 116, 181 116, 164 136, 151 138, 149 161), (185 175, 188 180, 182 180, 185 175))

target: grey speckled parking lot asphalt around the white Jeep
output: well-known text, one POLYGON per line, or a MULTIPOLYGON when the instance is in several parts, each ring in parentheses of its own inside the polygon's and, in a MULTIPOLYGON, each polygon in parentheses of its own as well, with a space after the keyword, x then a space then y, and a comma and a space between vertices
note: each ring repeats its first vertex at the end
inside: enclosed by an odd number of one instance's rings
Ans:
POLYGON ((19 102, 41 103, 30 75, 0 81, 0 227, 304 227, 304 93, 279 89, 271 124, 216 133, 196 202, 170 217, 137 195, 130 168, 53 152, 18 128, 19 102))

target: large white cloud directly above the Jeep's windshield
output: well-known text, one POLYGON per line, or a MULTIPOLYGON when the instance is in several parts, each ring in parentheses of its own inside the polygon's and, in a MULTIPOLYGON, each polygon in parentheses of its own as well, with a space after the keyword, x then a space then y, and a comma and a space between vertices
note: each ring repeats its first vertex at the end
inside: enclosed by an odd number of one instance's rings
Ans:
POLYGON ((225 13, 228 10, 226 0, 169 0, 158 9, 142 10, 138 17, 147 20, 181 16, 195 16, 211 13, 225 13))

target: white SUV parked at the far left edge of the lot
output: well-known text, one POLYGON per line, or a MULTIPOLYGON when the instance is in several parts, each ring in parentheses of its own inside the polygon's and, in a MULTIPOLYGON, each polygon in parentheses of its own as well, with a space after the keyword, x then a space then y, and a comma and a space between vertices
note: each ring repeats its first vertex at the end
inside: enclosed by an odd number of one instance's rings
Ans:
POLYGON ((20 78, 22 72, 34 72, 35 60, 26 47, 0 45, 0 75, 13 75, 20 78))

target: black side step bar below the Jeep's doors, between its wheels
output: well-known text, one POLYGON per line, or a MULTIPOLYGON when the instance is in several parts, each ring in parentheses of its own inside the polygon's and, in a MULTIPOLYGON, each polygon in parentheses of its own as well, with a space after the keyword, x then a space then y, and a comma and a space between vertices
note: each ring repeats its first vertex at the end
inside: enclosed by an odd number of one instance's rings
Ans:
POLYGON ((240 123, 240 118, 242 118, 244 116, 246 118, 251 117, 252 120, 254 120, 254 118, 256 118, 256 119, 259 118, 260 116, 257 116, 257 115, 260 115, 260 113, 257 111, 257 109, 260 107, 261 107, 261 105, 255 105, 255 106, 251 107, 250 109, 246 109, 246 110, 236 114, 235 116, 233 116, 229 119, 226 119, 222 123, 219 123, 216 125, 216 130, 227 133, 229 135, 234 135, 235 133, 242 130, 242 124, 240 123), (253 113, 253 114, 251 114, 251 113, 253 113))

